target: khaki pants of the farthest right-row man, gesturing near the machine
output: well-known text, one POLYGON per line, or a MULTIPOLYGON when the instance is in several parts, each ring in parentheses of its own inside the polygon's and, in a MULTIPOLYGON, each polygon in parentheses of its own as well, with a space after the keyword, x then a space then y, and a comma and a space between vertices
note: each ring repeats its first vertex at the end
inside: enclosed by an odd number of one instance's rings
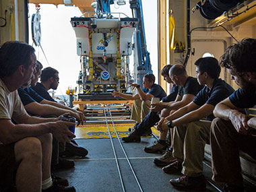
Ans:
POLYGON ((131 110, 131 119, 135 120, 137 123, 141 123, 141 120, 150 113, 150 100, 143 101, 141 99, 136 99, 133 103, 133 109, 131 110))

